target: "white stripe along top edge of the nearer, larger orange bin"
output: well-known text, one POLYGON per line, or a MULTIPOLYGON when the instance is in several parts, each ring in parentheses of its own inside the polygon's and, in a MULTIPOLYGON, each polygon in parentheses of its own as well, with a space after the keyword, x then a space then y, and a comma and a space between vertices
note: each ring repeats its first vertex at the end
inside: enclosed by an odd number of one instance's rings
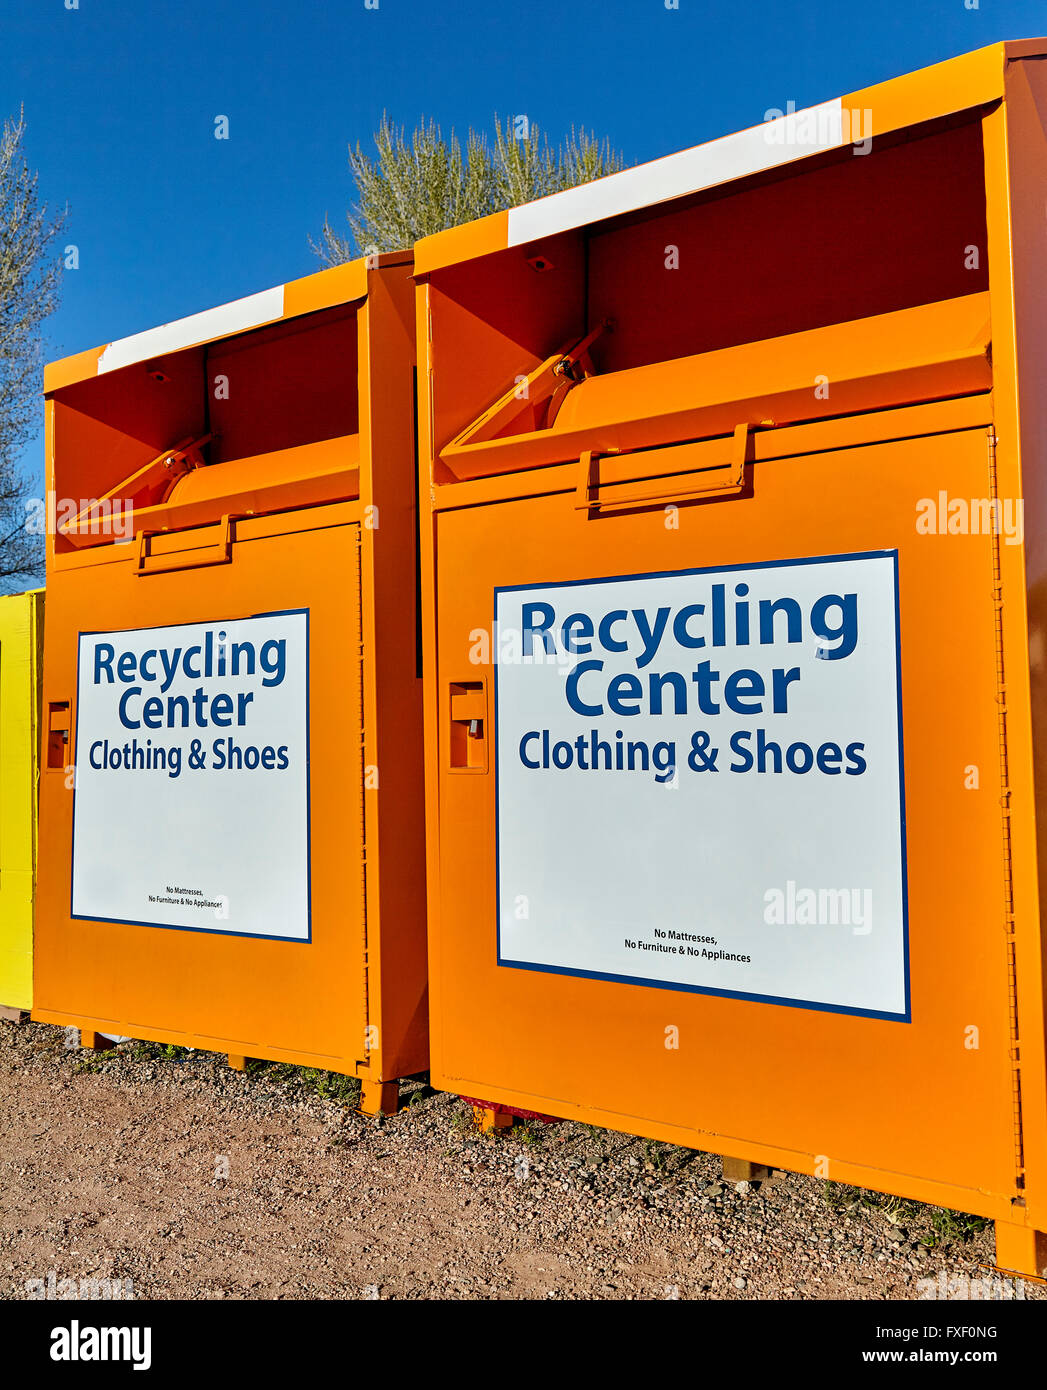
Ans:
POLYGON ((520 246, 539 236, 553 236, 606 217, 633 213, 654 203, 698 193, 717 183, 747 178, 779 164, 834 150, 844 139, 843 97, 790 111, 748 131, 724 135, 679 154, 622 170, 594 183, 524 203, 509 210, 509 245, 520 246))

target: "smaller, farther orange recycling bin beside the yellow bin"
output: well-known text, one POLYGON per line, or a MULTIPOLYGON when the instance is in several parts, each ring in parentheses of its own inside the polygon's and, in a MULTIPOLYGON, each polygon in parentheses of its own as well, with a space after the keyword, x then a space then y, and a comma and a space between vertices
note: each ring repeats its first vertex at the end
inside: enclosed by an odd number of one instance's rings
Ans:
POLYGON ((410 259, 53 364, 33 1016, 427 1065, 410 259))

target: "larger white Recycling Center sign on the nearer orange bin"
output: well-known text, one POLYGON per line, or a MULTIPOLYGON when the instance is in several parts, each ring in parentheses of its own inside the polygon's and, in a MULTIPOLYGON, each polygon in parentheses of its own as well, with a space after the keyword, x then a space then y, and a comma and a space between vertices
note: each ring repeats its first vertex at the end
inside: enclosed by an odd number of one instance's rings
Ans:
POLYGON ((499 965, 909 1017, 897 553, 495 591, 499 965))

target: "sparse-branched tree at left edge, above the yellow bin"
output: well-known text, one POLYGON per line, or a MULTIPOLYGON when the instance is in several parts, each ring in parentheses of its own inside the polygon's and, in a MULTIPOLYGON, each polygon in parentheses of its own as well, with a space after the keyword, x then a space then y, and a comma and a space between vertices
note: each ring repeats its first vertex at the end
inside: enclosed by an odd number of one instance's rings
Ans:
POLYGON ((63 217, 49 218, 22 140, 25 121, 0 131, 0 589, 39 578, 43 539, 26 527, 29 484, 19 456, 39 424, 42 324, 58 303, 51 253, 63 217))

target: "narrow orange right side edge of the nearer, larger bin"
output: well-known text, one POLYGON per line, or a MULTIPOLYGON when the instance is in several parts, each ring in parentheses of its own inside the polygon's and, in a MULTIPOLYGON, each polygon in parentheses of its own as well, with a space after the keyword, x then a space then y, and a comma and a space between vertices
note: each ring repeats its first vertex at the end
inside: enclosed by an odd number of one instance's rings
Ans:
POLYGON ((1016 1023, 1028 1220, 1047 1229, 1047 63, 1008 63, 986 117, 994 418, 1000 492, 1021 499, 1025 545, 1004 546, 1016 1023), (1037 881, 1039 860, 1039 881, 1037 881))

